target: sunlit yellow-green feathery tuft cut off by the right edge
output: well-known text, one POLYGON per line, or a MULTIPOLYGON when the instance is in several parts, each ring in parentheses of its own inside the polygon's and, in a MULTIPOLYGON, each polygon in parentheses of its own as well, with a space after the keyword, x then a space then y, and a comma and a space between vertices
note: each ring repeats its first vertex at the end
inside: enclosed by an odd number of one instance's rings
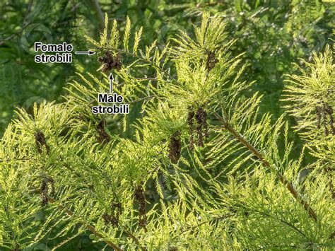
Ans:
POLYGON ((334 199, 331 168, 335 163, 333 50, 327 46, 324 53, 313 55, 312 63, 305 62, 307 69, 300 68, 300 75, 289 76, 283 101, 288 104, 284 106, 288 113, 297 121, 295 129, 305 139, 305 146, 317 158, 307 170, 326 173, 334 199))

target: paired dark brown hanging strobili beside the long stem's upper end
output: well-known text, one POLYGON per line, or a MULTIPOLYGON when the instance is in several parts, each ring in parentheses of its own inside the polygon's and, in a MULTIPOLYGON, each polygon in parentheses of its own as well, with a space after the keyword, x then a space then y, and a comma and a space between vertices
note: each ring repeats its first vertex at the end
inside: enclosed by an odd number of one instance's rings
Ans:
POLYGON ((207 113, 199 107, 196 112, 189 108, 187 123, 189 124, 189 148, 194 148, 194 120, 196 121, 197 145, 204 146, 204 139, 208 138, 207 113))

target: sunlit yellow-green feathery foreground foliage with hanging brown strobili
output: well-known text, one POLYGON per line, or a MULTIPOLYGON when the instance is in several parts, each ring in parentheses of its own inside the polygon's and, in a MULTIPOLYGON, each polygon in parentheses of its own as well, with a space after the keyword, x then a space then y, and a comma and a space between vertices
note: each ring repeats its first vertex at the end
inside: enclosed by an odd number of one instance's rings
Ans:
POLYGON ((299 152, 287 116, 264 112, 241 41, 213 12, 164 47, 129 18, 108 25, 106 15, 100 39, 87 37, 102 72, 74 77, 61 103, 16 110, 0 147, 1 247, 56 239, 65 248, 90 232, 96 249, 334 248, 330 47, 286 77, 281 105, 297 119, 299 152), (90 111, 110 72, 130 115, 90 111))

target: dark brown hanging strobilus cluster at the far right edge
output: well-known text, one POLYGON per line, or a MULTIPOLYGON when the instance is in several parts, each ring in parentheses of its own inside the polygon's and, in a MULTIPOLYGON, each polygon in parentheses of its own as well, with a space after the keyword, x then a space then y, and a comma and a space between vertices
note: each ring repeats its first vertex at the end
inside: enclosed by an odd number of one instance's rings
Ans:
POLYGON ((321 124, 323 124, 324 134, 326 136, 329 135, 329 132, 335 135, 333 108, 329 104, 324 102, 322 102, 321 105, 317 106, 316 108, 317 108, 317 128, 320 129, 321 124), (329 117, 329 119, 327 119, 327 117, 329 117))

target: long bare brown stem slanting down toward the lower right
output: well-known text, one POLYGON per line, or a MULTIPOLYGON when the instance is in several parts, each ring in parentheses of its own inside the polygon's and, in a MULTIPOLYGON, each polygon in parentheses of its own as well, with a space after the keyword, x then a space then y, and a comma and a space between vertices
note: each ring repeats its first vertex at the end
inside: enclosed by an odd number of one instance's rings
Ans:
MULTIPOLYGON (((261 156, 261 153, 259 153, 259 151, 257 151, 256 148, 254 148, 254 146, 252 146, 251 144, 249 144, 249 142, 247 142, 238 132, 235 131, 235 129, 233 129, 233 127, 230 127, 230 125, 228 124, 228 122, 226 122, 221 116, 219 116, 218 114, 216 114, 216 117, 223 123, 223 126, 225 127, 225 129, 228 130, 228 132, 230 132, 231 134, 233 134, 233 136, 235 136, 235 138, 240 141, 240 143, 244 146, 246 146, 249 151, 251 151, 252 153, 254 153, 254 155, 261 161, 261 163, 266 166, 267 168, 271 168, 270 163, 263 157, 261 156)), ((273 168, 271 168, 273 169, 273 168)), ((308 202, 305 201, 305 199, 303 199, 300 194, 298 193, 297 190, 295 190, 295 188, 293 187, 293 185, 286 180, 285 177, 283 177, 283 175, 281 173, 278 172, 278 170, 276 171, 276 175, 278 176, 279 180, 283 183, 283 185, 286 186, 286 188, 288 189, 288 191, 290 191, 290 193, 293 195, 293 197, 300 203, 302 204, 302 206, 304 207, 304 209, 307 211, 307 213, 313 218, 314 221, 317 221, 317 214, 315 214, 315 211, 310 207, 310 204, 308 204, 308 202)))

